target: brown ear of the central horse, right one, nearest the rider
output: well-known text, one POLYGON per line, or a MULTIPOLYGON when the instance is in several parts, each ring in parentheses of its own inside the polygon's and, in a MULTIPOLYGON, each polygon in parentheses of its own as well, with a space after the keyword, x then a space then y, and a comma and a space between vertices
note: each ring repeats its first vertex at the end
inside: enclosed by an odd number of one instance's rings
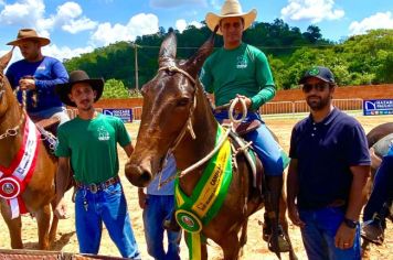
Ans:
POLYGON ((219 30, 219 25, 215 26, 213 33, 210 35, 206 42, 198 50, 198 52, 190 57, 182 66, 185 71, 190 73, 191 76, 197 77, 197 74, 201 69, 204 61, 213 52, 214 48, 214 39, 219 30))

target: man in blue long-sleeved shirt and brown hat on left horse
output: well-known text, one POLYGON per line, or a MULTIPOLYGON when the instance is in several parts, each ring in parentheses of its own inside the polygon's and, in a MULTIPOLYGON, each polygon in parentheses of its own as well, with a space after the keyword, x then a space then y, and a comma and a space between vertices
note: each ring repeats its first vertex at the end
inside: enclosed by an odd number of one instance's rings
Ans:
MULTIPOLYGON (((56 84, 68 80, 64 65, 54 57, 42 55, 41 47, 50 44, 32 29, 22 29, 17 40, 8 45, 18 46, 23 59, 10 65, 6 76, 13 89, 26 90, 26 111, 34 120, 57 117, 60 123, 70 120, 66 110, 54 91, 56 84)), ((22 104, 22 91, 18 93, 22 104)))

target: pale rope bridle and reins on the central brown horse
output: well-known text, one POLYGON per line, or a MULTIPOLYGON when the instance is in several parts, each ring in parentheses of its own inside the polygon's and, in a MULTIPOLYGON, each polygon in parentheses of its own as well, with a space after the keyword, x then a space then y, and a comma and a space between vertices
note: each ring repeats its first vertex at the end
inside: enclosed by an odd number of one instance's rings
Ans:
MULTIPOLYGON (((193 112, 197 108, 197 96, 198 96, 198 87, 195 86, 197 85, 197 80, 189 74, 187 73, 185 71, 177 67, 177 66, 164 66, 164 67, 160 67, 158 69, 159 72, 160 71, 169 71, 169 72, 177 72, 177 73, 181 73, 183 74, 188 79, 190 79, 190 82, 193 84, 193 86, 195 87, 195 93, 194 93, 194 100, 193 100, 193 106, 190 108, 190 113, 189 113, 189 118, 187 119, 187 122, 184 123, 181 132, 179 133, 178 138, 173 141, 173 145, 171 145, 168 150, 168 153, 167 153, 167 156, 166 156, 166 160, 164 160, 164 163, 163 165, 166 165, 167 163, 167 160, 168 160, 168 156, 169 154, 171 154, 176 148, 179 145, 180 141, 183 139, 184 134, 187 131, 190 132, 192 139, 194 140, 197 138, 195 133, 194 133, 194 130, 193 130, 193 127, 192 127, 192 116, 193 116, 193 112)), ((233 123, 234 122, 241 122, 243 121, 243 119, 246 117, 247 115, 247 107, 246 107, 246 104, 243 99, 236 97, 230 105, 230 110, 229 110, 229 115, 230 115, 230 119, 231 119, 231 123, 230 126, 227 127, 226 131, 224 132, 224 134, 221 137, 220 141, 217 142, 217 144, 214 147, 214 149, 208 153, 204 158, 202 158, 201 160, 199 160, 198 162, 195 162, 194 164, 190 165, 189 167, 184 169, 183 171, 181 171, 180 173, 171 176, 171 177, 168 177, 167 180, 164 180, 163 182, 161 182, 161 177, 162 177, 162 171, 160 172, 160 178, 159 178, 159 184, 158 184, 158 187, 162 187, 163 185, 168 184, 169 182, 171 182, 172 180, 174 180, 176 177, 183 177, 185 176, 187 174, 189 174, 190 172, 192 172, 193 170, 198 169, 199 166, 203 165, 204 163, 206 163, 220 149, 221 147, 224 144, 225 140, 229 138, 230 136, 230 132, 232 131, 232 128, 233 128, 233 123), (233 118, 233 110, 236 106, 237 102, 241 102, 242 104, 242 108, 243 108, 243 115, 242 115, 242 118, 241 119, 234 119, 233 118)))

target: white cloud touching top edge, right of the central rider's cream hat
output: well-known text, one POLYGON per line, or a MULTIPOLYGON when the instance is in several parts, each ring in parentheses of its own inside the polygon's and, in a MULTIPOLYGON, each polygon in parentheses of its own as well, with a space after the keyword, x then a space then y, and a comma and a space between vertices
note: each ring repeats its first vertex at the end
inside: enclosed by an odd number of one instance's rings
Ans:
POLYGON ((314 23, 337 20, 344 13, 342 9, 334 8, 334 0, 288 0, 288 6, 282 9, 284 20, 309 20, 314 23))

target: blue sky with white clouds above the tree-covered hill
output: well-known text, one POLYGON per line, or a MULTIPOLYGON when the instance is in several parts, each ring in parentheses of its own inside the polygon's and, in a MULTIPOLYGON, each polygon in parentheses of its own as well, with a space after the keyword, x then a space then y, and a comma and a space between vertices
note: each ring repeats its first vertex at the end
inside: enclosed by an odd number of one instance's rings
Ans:
MULTIPOLYGON (((201 26, 208 12, 220 13, 224 0, 0 0, 0 54, 22 28, 35 29, 52 43, 43 54, 59 59, 78 56, 118 41, 156 33, 160 26, 201 26)), ((325 39, 340 41, 370 29, 393 29, 393 0, 241 0, 255 8, 256 21, 283 19, 304 32, 310 24, 325 39)), ((21 58, 14 52, 13 61, 21 58)))

